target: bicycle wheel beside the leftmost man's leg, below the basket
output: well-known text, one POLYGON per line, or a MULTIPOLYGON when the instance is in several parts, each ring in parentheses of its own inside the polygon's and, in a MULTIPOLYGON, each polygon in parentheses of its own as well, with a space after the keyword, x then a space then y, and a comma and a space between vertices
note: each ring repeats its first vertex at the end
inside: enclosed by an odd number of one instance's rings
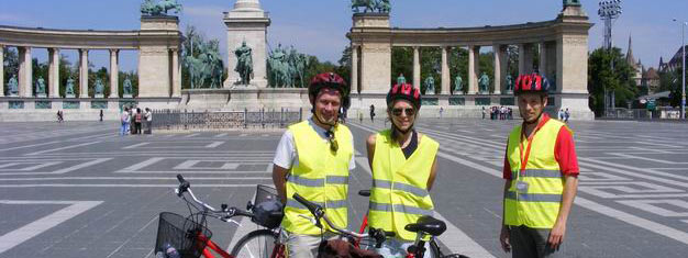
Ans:
POLYGON ((234 248, 232 248, 232 256, 242 258, 273 258, 273 250, 276 246, 278 246, 278 236, 275 232, 270 229, 258 229, 238 239, 234 248))

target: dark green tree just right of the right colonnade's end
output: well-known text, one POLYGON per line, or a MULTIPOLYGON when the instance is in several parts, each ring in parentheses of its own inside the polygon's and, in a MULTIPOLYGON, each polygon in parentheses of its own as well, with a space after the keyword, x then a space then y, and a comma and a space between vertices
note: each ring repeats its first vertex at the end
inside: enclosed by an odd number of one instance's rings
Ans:
POLYGON ((595 49, 588 58, 588 105, 596 115, 604 110, 604 88, 612 92, 617 106, 628 106, 640 94, 640 89, 632 79, 632 67, 618 47, 611 51, 595 49), (613 63, 613 69, 611 67, 613 63))

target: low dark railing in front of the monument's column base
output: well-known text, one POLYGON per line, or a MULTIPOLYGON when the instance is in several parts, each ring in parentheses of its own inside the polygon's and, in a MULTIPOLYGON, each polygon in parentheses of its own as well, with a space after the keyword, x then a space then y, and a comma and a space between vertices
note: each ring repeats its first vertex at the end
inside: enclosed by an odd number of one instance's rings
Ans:
POLYGON ((302 110, 180 111, 154 110, 154 130, 284 128, 301 121, 302 110))

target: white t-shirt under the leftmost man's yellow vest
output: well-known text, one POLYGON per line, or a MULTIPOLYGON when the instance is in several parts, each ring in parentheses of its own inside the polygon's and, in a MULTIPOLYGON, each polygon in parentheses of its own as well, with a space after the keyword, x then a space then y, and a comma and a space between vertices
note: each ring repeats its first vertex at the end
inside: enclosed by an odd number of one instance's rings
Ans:
MULTIPOLYGON (((325 136, 325 128, 318 126, 312 119, 308 120, 309 124, 318 135, 322 138, 323 142, 328 142, 328 136, 325 136)), ((352 146, 353 146, 353 135, 352 135, 352 146)), ((352 155, 352 160, 348 162, 348 170, 354 170, 356 168, 356 154, 352 155)), ((287 130, 285 134, 282 134, 279 144, 277 145, 277 150, 275 152, 275 159, 273 164, 279 166, 281 168, 291 169, 291 166, 299 165, 299 156, 297 154, 297 147, 293 142, 293 134, 291 131, 287 130)))

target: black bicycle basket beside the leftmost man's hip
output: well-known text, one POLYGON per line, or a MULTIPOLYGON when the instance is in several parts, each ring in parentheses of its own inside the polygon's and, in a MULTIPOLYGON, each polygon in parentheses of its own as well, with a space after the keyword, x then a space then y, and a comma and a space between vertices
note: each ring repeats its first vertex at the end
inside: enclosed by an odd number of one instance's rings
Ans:
POLYGON ((256 198, 251 211, 253 212, 252 221, 267 228, 278 227, 285 216, 284 205, 278 199, 277 190, 263 184, 256 188, 256 198))

